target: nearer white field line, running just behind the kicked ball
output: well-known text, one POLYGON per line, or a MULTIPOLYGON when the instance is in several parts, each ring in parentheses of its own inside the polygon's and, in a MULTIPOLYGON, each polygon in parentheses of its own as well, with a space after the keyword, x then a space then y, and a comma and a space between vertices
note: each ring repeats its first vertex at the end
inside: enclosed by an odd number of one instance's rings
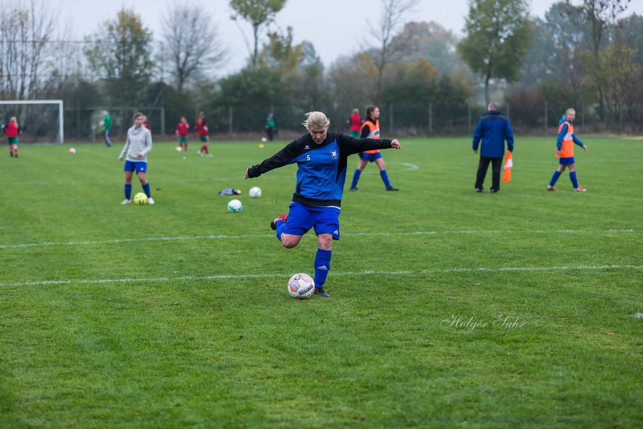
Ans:
MULTIPOLYGON (((422 269, 419 271, 345 271, 329 273, 330 276, 341 275, 406 275, 406 274, 440 274, 440 273, 469 273, 485 272, 498 273, 502 271, 570 271, 579 269, 643 269, 643 265, 579 265, 556 267, 505 267, 505 268, 449 268, 449 269, 422 269)), ((291 274, 266 273, 266 274, 239 274, 239 275, 186 275, 180 277, 147 277, 147 278, 102 278, 99 280, 47 280, 44 282, 16 282, 0 283, 0 286, 48 286, 51 284, 108 284, 108 283, 133 283, 133 282, 180 282, 183 280, 224 280, 228 278, 274 278, 289 277, 291 274)))

